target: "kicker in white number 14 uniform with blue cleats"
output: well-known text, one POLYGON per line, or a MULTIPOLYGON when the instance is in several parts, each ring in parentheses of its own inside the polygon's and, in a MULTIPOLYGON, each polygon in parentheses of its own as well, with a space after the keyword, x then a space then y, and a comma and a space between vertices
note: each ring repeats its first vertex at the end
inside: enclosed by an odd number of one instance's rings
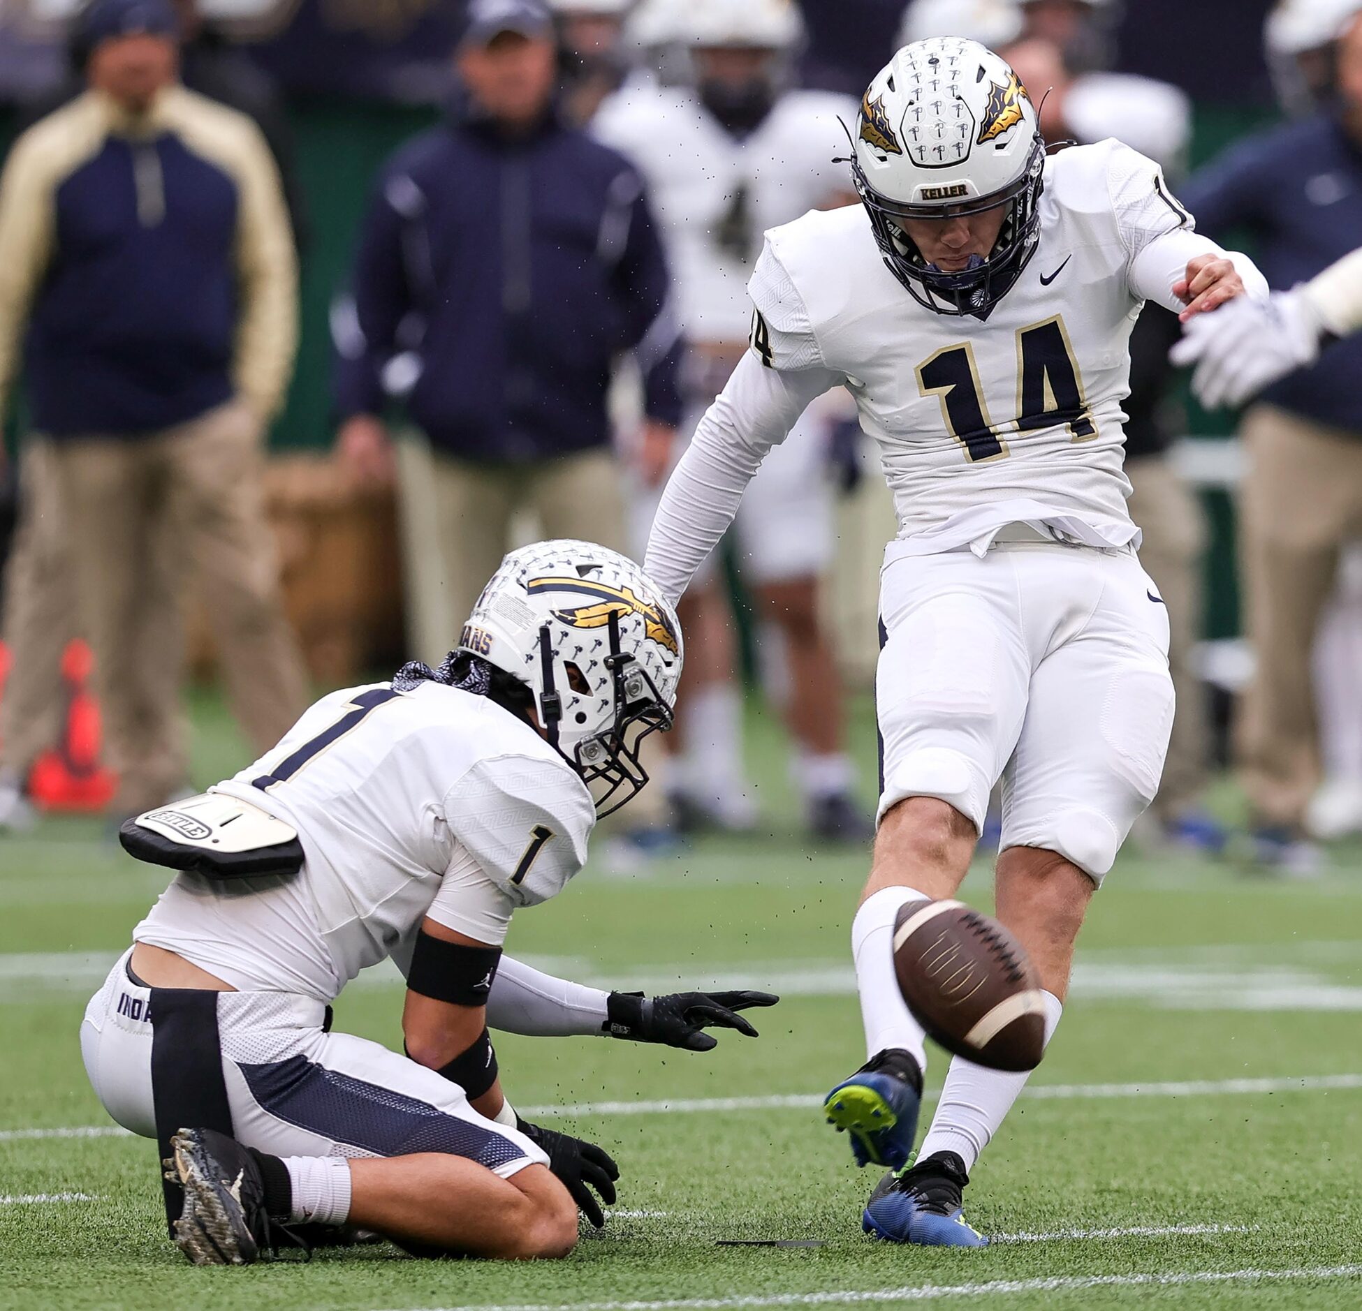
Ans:
POLYGON ((899 50, 865 94, 851 169, 861 207, 767 233, 750 350, 667 486, 646 568, 676 600, 810 398, 851 391, 899 535, 881 577, 878 833, 853 924, 870 1059, 827 1115, 858 1164, 899 1171, 869 1232, 981 1246, 962 1190, 1026 1077, 955 1059, 904 1169, 925 1056, 895 916, 956 892, 1001 777, 997 913, 1053 1032, 1173 722, 1167 618, 1121 470, 1130 328, 1145 300, 1186 320, 1267 289, 1193 233, 1152 161, 1114 140, 1047 158, 1026 88, 971 41, 899 50))

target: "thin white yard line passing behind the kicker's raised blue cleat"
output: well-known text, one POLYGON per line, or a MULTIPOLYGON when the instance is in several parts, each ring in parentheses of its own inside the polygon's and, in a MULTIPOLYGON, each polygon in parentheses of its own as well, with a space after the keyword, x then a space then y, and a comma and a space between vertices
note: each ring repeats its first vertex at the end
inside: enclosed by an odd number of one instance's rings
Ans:
MULTIPOLYGON (((1293 1078, 1227 1078, 1181 1084, 1042 1084, 1022 1096, 1041 1101, 1083 1101, 1115 1097, 1241 1097, 1288 1092, 1351 1092, 1362 1089, 1362 1074, 1314 1074, 1293 1078)), ((936 1089, 925 1101, 934 1101, 936 1089)), ((770 1097, 677 1097, 659 1101, 576 1101, 567 1105, 518 1107, 527 1119, 575 1115, 714 1115, 725 1111, 810 1111, 823 1105, 823 1093, 770 1097)), ((125 1138, 116 1124, 76 1124, 63 1129, 4 1129, 0 1142, 31 1138, 125 1138)))

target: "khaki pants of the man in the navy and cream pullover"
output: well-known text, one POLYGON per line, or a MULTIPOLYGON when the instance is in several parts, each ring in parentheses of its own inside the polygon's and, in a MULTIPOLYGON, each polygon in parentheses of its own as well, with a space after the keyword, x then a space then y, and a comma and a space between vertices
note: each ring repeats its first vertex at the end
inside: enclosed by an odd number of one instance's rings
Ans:
POLYGON ((120 775, 116 806, 131 814, 184 783, 183 732, 178 723, 168 731, 162 705, 177 702, 178 679, 148 687, 139 670, 148 634, 165 624, 163 589, 148 585, 158 573, 188 565, 202 588, 227 693, 257 750, 304 709, 302 660, 264 513, 260 426, 245 406, 226 404, 143 437, 65 438, 52 451, 109 764, 120 775))

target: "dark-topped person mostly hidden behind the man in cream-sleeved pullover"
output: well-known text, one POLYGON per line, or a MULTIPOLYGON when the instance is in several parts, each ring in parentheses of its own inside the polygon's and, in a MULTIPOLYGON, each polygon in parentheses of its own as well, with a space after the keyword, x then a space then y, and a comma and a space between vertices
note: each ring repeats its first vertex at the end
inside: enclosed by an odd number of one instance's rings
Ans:
MULTIPOLYGON (((86 4, 68 39, 71 83, 39 105, 25 106, 29 127, 86 90, 86 68, 106 7, 86 4)), ((222 42, 197 11, 196 0, 174 0, 180 22, 180 80, 191 91, 237 109, 255 120, 279 167, 296 244, 306 231, 302 189, 294 167, 293 133, 282 97, 270 76, 222 42)), ((4 640, 11 666, 0 702, 0 832, 26 825, 31 815, 23 780, 37 757, 57 742, 64 711, 61 653, 76 636, 76 598, 67 560, 68 525, 60 512, 50 442, 31 434, 19 456, 20 509, 14 550, 7 562, 4 640)), ((146 690, 142 704, 165 698, 181 678, 181 615, 176 581, 183 562, 173 543, 151 553, 143 577, 148 622, 136 674, 146 690)), ((173 709, 173 707, 168 707, 173 709)), ((264 746, 257 742, 256 746, 264 746)))

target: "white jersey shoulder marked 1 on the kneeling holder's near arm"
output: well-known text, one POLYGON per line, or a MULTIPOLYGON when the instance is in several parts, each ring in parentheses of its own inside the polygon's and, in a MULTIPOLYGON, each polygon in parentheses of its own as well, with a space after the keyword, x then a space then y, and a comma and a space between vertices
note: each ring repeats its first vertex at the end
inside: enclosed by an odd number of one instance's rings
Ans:
POLYGON ((445 794, 444 818, 494 884, 535 905, 586 863, 595 807, 567 762, 494 756, 445 794))

